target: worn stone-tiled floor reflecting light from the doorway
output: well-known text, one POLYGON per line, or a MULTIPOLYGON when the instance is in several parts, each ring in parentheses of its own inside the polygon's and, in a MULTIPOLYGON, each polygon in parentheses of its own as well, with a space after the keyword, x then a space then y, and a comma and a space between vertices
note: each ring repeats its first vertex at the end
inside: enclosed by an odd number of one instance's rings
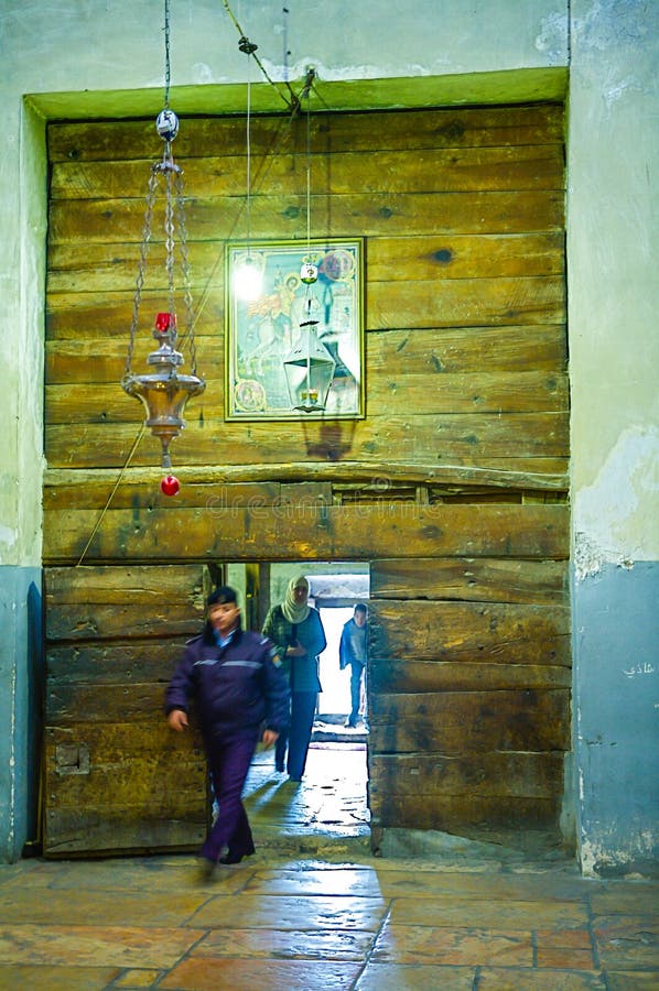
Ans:
POLYGON ((258 754, 257 854, 209 883, 192 854, 0 865, 0 989, 659 989, 657 882, 447 836, 374 857, 365 784, 358 734, 298 785, 258 754))

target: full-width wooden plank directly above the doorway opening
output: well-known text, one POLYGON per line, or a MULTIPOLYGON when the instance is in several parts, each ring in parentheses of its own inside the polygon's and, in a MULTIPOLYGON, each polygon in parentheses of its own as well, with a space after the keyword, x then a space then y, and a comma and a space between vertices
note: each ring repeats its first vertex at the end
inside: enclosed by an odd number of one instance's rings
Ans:
MULTIPOLYGON (((569 555, 565 505, 292 505, 128 511, 109 509, 87 549, 102 560, 370 560, 400 557, 569 555)), ((98 513, 50 513, 44 559, 77 562, 98 513)), ((379 608, 385 608, 382 607, 379 608)))

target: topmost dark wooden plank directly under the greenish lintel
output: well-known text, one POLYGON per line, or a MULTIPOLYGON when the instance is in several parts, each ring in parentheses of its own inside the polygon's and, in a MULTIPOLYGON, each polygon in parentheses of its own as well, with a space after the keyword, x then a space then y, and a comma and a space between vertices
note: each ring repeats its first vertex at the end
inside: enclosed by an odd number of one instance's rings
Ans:
MULTIPOLYGON (((422 148, 488 148, 550 144, 564 138, 564 109, 557 104, 483 109, 451 107, 371 113, 312 113, 312 150, 347 151, 422 148)), ((153 120, 52 122, 47 127, 51 162, 93 162, 144 157, 158 161, 161 141, 153 120)), ((290 115, 255 116, 255 159, 274 150, 305 146, 304 134, 291 128, 290 115)), ((245 153, 245 118, 184 118, 176 138, 176 159, 245 153)), ((260 164, 260 163, 259 163, 260 164)))

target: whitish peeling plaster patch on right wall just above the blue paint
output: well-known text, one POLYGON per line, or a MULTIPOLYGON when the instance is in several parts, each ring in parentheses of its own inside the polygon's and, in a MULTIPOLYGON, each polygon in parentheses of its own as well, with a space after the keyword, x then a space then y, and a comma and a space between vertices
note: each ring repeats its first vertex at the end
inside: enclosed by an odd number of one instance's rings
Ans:
POLYGON ((603 564, 659 558, 659 428, 623 431, 597 478, 574 499, 577 578, 603 564))

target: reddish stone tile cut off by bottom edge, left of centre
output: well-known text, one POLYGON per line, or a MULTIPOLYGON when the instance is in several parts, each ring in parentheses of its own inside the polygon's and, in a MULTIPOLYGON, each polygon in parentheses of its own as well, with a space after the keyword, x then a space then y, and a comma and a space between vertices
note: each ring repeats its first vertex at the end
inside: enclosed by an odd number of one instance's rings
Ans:
POLYGON ((176 991, 346 991, 359 973, 357 963, 310 960, 231 960, 195 957, 184 960, 159 988, 176 991))

